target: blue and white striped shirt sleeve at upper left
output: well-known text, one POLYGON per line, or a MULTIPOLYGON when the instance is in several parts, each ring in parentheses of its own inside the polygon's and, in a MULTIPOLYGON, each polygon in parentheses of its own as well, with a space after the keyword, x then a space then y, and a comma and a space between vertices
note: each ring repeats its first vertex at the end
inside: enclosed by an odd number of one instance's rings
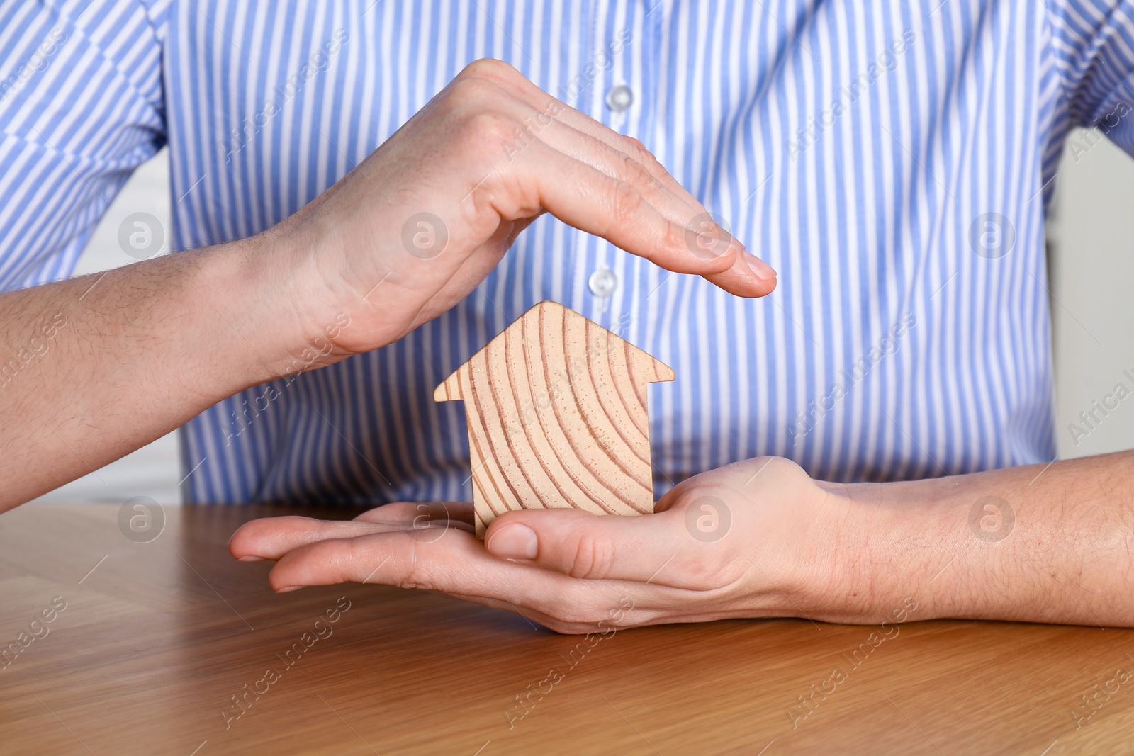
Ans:
POLYGON ((0 290, 69 275, 164 144, 164 6, 0 0, 0 290))

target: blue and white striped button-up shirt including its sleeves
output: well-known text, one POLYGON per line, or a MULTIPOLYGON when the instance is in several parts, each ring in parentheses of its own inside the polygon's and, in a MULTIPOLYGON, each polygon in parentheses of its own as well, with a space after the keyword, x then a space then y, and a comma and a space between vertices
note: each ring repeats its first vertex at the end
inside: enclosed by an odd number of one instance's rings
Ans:
POLYGON ((253 235, 482 57, 645 143, 779 288, 542 218, 403 341, 187 424, 188 501, 468 499, 432 389, 542 299, 674 367, 659 493, 769 453, 844 481, 1052 458, 1044 205, 1072 127, 1134 147, 1129 0, 0 0, 0 286, 68 275, 164 144, 172 248, 253 235))

